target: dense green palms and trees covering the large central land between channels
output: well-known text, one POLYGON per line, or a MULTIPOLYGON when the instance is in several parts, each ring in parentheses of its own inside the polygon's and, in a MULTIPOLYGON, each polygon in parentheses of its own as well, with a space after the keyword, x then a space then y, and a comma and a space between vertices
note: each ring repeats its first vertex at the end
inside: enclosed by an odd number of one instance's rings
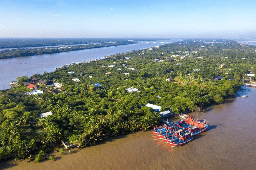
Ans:
POLYGON ((29 91, 23 86, 2 91, 0 159, 30 159, 31 154, 37 154, 36 161, 40 161, 49 146, 60 144, 61 139, 84 147, 94 145, 104 136, 148 130, 160 122, 160 115, 141 106, 147 103, 172 110, 174 114, 221 103, 235 94, 245 73, 256 71, 255 50, 234 43, 202 46, 180 42, 34 74, 30 79, 54 79, 63 88, 54 94, 51 87, 38 86, 44 94, 29 96, 23 95, 29 91), (216 81, 215 76, 224 78, 216 81), (166 81, 170 77, 173 79, 166 81), (81 81, 75 82, 73 78, 81 81), (102 86, 96 88, 93 83, 102 86), (129 87, 140 92, 128 93, 129 87), (49 111, 53 115, 38 116, 49 111))

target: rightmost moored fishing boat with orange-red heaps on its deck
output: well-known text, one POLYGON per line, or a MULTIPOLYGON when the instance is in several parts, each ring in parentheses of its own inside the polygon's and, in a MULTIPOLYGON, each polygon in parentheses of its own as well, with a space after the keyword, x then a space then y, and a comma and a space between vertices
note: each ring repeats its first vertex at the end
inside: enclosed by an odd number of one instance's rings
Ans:
POLYGON ((191 135, 196 135, 202 133, 208 129, 208 123, 206 120, 204 122, 200 122, 198 120, 194 121, 192 118, 188 118, 185 120, 186 124, 181 125, 186 130, 191 132, 191 135))

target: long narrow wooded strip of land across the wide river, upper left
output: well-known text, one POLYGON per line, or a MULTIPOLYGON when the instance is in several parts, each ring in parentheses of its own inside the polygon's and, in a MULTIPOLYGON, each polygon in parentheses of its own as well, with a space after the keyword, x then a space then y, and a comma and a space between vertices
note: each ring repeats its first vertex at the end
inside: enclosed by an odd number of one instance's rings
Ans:
POLYGON ((16 57, 27 57, 41 54, 53 54, 67 51, 77 51, 91 48, 101 48, 108 46, 128 45, 137 42, 116 42, 116 43, 99 43, 99 44, 87 44, 87 45, 76 45, 76 46, 61 46, 61 47, 44 47, 44 48, 22 48, 0 51, 0 59, 4 58, 16 58, 16 57))

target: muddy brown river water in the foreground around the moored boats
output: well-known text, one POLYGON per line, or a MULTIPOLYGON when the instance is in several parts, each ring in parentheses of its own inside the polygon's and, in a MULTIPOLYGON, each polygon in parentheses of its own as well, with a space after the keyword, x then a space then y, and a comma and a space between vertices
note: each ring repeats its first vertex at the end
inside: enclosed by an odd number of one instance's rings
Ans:
MULTIPOLYGON (((111 137, 96 146, 71 149, 55 161, 41 163, 10 160, 0 169, 256 169, 256 89, 242 87, 226 103, 189 113, 210 122, 206 132, 184 146, 171 148, 153 137, 152 131, 111 137), (247 98, 242 95, 247 94, 247 98), (140 136, 140 137, 139 137, 140 136)), ((178 120, 177 117, 171 119, 178 120)))

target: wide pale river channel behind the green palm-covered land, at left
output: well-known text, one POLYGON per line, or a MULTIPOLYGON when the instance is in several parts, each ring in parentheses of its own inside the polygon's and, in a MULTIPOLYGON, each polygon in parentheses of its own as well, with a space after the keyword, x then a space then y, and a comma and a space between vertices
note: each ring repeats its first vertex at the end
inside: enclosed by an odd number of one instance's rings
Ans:
MULTIPOLYGON (((177 42, 175 40, 159 40, 147 41, 150 43, 137 43, 130 45, 120 45, 115 47, 94 48, 79 51, 61 52, 55 54, 35 55, 30 57, 19 57, 11 59, 0 59, 0 90, 9 89, 8 84, 17 77, 33 74, 43 74, 45 71, 54 71, 55 67, 62 67, 70 62, 81 62, 94 60, 96 58, 104 58, 107 55, 128 52, 132 50, 145 49, 157 45, 162 45, 159 42, 177 42), (154 43, 158 42, 158 43, 154 43)), ((166 44, 165 43, 165 44, 166 44)))

